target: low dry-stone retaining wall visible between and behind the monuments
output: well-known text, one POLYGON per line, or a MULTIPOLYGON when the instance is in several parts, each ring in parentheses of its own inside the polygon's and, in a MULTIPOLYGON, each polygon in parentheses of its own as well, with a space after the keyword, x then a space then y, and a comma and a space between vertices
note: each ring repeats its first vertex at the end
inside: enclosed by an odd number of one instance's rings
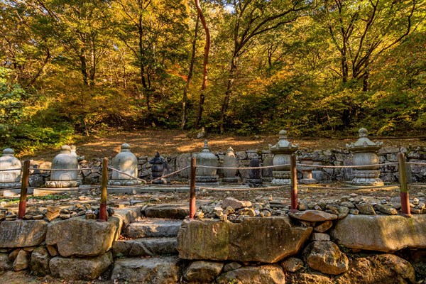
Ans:
MULTIPOLYGON (((408 162, 420 162, 426 163, 426 148, 418 146, 405 147, 383 147, 378 151, 378 158, 380 163, 393 163, 397 162, 397 153, 402 151, 406 153, 408 162)), ((313 159, 320 162, 322 165, 351 165, 352 155, 351 153, 342 148, 337 148, 333 150, 298 150, 296 152, 298 162, 302 155, 306 153, 312 153, 313 159)), ((219 167, 223 165, 225 152, 215 153, 219 158, 219 167)), ((191 153, 184 153, 180 155, 168 155, 168 163, 170 165, 170 170, 175 171, 180 168, 185 168, 187 165, 190 165, 191 153)), ((235 153, 236 159, 239 167, 244 168, 248 167, 251 158, 259 158, 261 160, 261 165, 271 165, 273 157, 271 151, 268 150, 247 150, 247 151, 237 151, 235 153)), ((149 160, 154 158, 153 156, 141 156, 138 157, 138 170, 139 177, 151 180, 151 164, 148 163, 149 160)), ((82 167, 82 178, 84 185, 94 185, 99 184, 101 180, 101 170, 84 170, 84 168, 97 168, 101 165, 101 160, 82 160, 80 162, 82 167)), ((40 168, 50 168, 50 163, 45 162, 40 165, 36 165, 40 168)), ((420 165, 409 165, 411 170, 411 178, 409 181, 413 182, 426 182, 426 167, 420 165)), ((386 165, 380 168, 381 175, 380 178, 384 182, 398 182, 398 166, 397 165, 386 165)), ((218 171, 219 177, 223 177, 221 170, 218 171)), ((111 172, 110 172, 111 175, 111 172)), ((189 170, 180 172, 178 175, 171 177, 171 180, 178 180, 186 182, 190 175, 189 170)), ((249 170, 241 170, 239 175, 241 178, 249 178, 249 170)), ((262 171, 264 178, 272 177, 272 169, 264 169, 262 171)), ((337 182, 337 181, 347 181, 354 178, 352 174, 352 169, 318 169, 312 172, 313 177, 318 182, 337 182)), ((42 187, 46 180, 49 180, 49 172, 41 172, 40 170, 32 170, 30 175, 30 186, 31 187, 42 187)), ((302 173, 300 172, 298 178, 302 178, 302 173)))

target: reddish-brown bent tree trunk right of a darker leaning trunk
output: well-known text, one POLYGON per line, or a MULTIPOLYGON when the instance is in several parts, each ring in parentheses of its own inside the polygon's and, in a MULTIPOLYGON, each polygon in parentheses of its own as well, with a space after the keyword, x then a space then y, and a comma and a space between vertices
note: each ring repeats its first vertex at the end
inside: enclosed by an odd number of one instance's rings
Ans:
POLYGON ((202 111, 204 109, 204 92, 205 92, 205 89, 207 88, 207 65, 209 64, 210 31, 209 31, 209 27, 207 27, 207 23, 204 18, 204 15, 202 14, 200 1, 195 0, 195 6, 197 6, 198 16, 200 17, 200 21, 206 33, 206 44, 204 45, 203 77, 202 77, 202 85, 201 85, 201 92, 200 92, 200 104, 198 106, 197 118, 195 119, 195 129, 199 129, 202 111))

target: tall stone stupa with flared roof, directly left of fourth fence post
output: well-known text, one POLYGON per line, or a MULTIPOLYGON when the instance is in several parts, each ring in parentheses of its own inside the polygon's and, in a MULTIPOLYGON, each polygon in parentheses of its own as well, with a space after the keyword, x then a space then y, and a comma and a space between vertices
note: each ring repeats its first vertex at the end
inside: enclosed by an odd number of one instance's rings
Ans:
MULTIPOLYGON (((269 147, 269 150, 273 153, 273 165, 290 164, 290 157, 299 146, 298 144, 293 145, 287 140, 287 131, 281 130, 279 134, 278 143, 269 147)), ((290 165, 274 168, 272 175, 272 185, 290 185, 290 165)))

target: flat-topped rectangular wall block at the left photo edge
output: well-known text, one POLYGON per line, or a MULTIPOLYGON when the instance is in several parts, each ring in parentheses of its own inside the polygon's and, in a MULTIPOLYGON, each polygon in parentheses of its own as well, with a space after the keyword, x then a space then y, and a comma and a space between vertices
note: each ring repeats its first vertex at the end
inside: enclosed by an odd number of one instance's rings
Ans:
POLYGON ((38 246, 45 240, 48 222, 16 220, 0 223, 0 248, 38 246))

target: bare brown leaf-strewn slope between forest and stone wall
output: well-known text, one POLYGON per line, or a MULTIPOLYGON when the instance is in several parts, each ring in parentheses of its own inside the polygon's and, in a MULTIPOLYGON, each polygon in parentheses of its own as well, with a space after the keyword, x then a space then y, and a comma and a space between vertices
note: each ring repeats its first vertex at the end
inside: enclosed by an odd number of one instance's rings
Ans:
MULTIPOLYGON (((267 150, 268 145, 274 145, 278 141, 278 133, 271 135, 234 136, 231 134, 219 135, 207 133, 202 138, 196 138, 197 133, 180 130, 143 130, 143 131, 111 131, 92 136, 85 136, 73 141, 77 146, 77 154, 84 155, 86 159, 112 157, 119 153, 122 143, 129 143, 131 151, 136 156, 154 155, 159 151, 161 155, 180 153, 195 153, 202 150, 203 141, 209 141, 210 151, 225 152, 229 146, 234 151, 246 151, 249 149, 267 150)), ((315 138, 315 137, 293 137, 288 140, 298 143, 303 149, 332 149, 346 148, 346 143, 355 142, 357 135, 349 138, 315 138)), ((383 141, 383 146, 410 145, 426 147, 425 138, 374 138, 372 141, 383 141)), ((24 155, 19 158, 32 158, 33 160, 52 160, 58 154, 58 148, 47 148, 32 155, 24 155)))

